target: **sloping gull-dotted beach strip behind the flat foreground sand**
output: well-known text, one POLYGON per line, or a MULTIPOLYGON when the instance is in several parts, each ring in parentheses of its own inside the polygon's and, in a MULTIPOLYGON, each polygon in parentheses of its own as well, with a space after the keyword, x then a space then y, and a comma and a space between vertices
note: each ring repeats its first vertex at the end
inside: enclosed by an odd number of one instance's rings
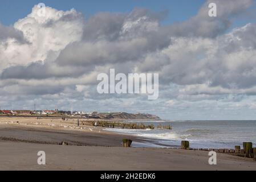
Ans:
POLYGON ((77 127, 75 121, 74 123, 60 121, 61 119, 51 121, 51 118, 38 120, 36 118, 0 117, 0 140, 43 144, 67 142, 69 145, 76 146, 112 147, 121 147, 124 138, 132 139, 137 143, 154 143, 152 139, 106 131, 102 127, 88 125, 77 127))

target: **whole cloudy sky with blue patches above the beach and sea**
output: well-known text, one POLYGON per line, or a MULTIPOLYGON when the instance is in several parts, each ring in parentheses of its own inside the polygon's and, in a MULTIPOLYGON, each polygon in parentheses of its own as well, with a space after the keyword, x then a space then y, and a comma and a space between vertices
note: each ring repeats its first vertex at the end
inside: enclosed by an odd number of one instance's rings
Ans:
POLYGON ((255 1, 105 2, 0 1, 1 109, 256 118, 255 1), (159 73, 159 99, 98 94, 111 68, 159 73))

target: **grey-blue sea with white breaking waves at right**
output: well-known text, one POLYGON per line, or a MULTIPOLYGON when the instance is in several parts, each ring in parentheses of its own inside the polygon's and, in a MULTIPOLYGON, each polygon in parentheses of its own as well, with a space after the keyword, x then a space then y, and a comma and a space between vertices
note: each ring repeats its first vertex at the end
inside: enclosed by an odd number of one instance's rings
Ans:
POLYGON ((132 147, 178 147, 188 140, 191 148, 234 148, 243 142, 253 142, 256 147, 256 121, 125 121, 145 125, 171 125, 172 130, 105 129, 119 134, 143 137, 143 142, 133 142, 132 147))

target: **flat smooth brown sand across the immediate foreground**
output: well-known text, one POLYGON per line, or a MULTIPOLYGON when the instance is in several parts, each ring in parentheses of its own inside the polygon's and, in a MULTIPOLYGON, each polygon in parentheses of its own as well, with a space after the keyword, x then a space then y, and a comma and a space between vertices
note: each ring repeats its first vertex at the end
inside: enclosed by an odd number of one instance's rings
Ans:
POLYGON ((1 170, 255 170, 252 159, 217 154, 208 164, 208 152, 167 148, 57 146, 0 142, 1 170), (46 165, 37 164, 37 152, 46 152, 46 165))

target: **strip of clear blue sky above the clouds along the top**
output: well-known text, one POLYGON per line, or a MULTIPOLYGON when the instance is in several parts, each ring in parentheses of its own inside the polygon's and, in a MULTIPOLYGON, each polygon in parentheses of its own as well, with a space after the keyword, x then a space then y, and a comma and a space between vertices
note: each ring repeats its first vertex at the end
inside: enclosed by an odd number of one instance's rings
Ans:
POLYGON ((46 6, 54 7, 58 10, 70 10, 72 8, 79 12, 82 12, 84 16, 94 15, 101 11, 108 12, 122 12, 128 13, 135 7, 141 7, 150 9, 153 11, 168 10, 169 14, 162 23, 173 23, 186 20, 189 17, 195 15, 200 9, 201 5, 205 2, 204 0, 160 0, 160 1, 148 1, 148 0, 95 0, 95 1, 84 1, 84 0, 1 0, 0 6, 0 22, 6 26, 15 23, 18 19, 25 17, 31 12, 34 5, 38 3, 44 3, 46 6))

